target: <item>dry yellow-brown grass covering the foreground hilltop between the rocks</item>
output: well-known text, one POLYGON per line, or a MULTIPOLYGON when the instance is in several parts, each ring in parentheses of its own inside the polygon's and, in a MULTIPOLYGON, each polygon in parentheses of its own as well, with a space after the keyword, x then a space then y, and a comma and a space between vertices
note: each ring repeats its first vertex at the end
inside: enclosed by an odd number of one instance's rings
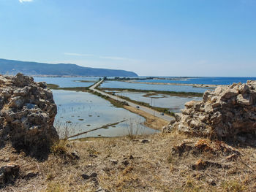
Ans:
POLYGON ((214 143, 182 134, 154 134, 127 137, 80 139, 61 143, 64 155, 49 155, 39 162, 11 146, 1 149, 0 165, 10 161, 20 165, 15 185, 0 191, 256 191, 256 150, 236 147, 241 155, 227 161, 227 154, 212 153, 214 143), (140 142, 148 139, 149 142, 140 142), (203 147, 200 153, 173 153, 182 143, 203 147), (72 158, 76 150, 80 159, 72 158), (9 159, 8 159, 9 158, 9 159), (198 159, 227 165, 192 169, 198 159), (37 176, 26 178, 29 172, 37 176), (81 175, 97 173, 84 179, 81 175))

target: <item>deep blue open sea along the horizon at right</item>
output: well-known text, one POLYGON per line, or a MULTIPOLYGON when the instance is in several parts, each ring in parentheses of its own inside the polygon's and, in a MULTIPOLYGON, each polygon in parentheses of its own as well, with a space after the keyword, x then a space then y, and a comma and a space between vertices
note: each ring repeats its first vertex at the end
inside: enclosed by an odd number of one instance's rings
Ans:
MULTIPOLYGON (((166 77, 170 78, 170 77, 166 77)), ((173 77, 175 78, 175 77, 173 77)), ((247 80, 256 80, 256 77, 197 77, 177 78, 177 80, 137 80, 138 82, 172 82, 187 84, 231 85, 233 82, 245 83, 247 80)))

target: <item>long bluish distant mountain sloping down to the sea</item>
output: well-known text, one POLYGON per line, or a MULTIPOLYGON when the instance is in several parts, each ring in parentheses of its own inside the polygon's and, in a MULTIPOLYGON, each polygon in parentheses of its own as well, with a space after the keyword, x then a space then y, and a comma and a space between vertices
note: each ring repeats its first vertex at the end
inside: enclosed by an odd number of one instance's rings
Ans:
POLYGON ((116 69, 97 69, 75 64, 44 64, 27 61, 14 61, 0 58, 0 74, 27 75, 70 75, 70 76, 107 76, 107 77, 137 77, 135 72, 116 69))

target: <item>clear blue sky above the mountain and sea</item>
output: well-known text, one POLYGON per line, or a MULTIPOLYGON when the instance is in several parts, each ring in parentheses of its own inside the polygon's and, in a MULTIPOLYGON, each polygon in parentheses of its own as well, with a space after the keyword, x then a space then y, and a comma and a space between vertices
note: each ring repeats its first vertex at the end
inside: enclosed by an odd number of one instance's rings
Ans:
POLYGON ((256 0, 0 0, 0 58, 256 77, 256 0))

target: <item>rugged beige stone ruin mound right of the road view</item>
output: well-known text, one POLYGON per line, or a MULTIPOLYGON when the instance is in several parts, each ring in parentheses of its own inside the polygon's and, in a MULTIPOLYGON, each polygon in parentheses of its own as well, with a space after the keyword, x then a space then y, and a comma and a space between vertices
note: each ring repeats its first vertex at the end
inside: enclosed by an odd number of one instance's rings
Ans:
POLYGON ((202 101, 189 101, 163 132, 236 140, 256 145, 256 81, 219 85, 206 91, 202 101))

